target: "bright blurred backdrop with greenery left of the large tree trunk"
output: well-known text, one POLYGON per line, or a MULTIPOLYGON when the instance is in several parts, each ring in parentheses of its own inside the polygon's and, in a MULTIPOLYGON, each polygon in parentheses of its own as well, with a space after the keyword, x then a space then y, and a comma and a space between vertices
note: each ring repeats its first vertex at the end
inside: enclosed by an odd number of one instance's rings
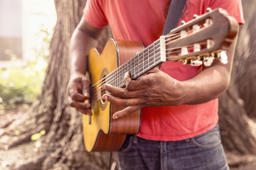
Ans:
POLYGON ((41 91, 56 20, 53 0, 0 0, 0 109, 41 91))

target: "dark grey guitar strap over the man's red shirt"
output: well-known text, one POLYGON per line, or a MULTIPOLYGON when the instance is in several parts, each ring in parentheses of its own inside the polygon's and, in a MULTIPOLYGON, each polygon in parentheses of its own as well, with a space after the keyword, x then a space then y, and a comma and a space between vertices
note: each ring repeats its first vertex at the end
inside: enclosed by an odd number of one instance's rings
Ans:
POLYGON ((186 0, 171 0, 162 35, 167 35, 177 27, 185 4, 186 0))

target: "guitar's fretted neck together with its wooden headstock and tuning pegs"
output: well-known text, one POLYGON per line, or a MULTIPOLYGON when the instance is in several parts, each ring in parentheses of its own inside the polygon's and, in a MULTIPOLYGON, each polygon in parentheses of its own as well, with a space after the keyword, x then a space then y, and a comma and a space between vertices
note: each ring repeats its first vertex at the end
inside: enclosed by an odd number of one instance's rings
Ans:
POLYGON ((168 35, 161 36, 118 69, 106 75, 105 82, 112 86, 124 87, 125 73, 129 72, 132 80, 135 80, 165 61, 210 66, 210 57, 219 58, 222 62, 219 54, 221 50, 228 50, 237 30, 237 21, 224 9, 209 11, 173 29, 168 35))

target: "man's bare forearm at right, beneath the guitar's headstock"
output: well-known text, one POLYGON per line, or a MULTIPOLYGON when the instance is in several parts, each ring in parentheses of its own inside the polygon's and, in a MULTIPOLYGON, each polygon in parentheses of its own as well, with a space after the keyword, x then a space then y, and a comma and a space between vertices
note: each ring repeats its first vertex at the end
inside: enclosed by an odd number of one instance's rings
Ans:
POLYGON ((227 52, 228 63, 214 61, 212 66, 205 67, 202 72, 190 80, 180 82, 183 89, 182 104, 202 104, 218 98, 228 88, 237 37, 227 52))

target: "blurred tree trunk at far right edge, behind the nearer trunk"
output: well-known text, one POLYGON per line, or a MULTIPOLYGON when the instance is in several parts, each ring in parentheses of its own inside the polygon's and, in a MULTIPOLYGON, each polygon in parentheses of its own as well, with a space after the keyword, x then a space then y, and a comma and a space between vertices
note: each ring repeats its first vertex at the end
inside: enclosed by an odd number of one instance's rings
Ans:
POLYGON ((244 101, 244 109, 250 118, 256 118, 256 22, 255 22, 255 0, 243 0, 244 26, 241 31, 236 54, 237 73, 235 83, 238 84, 239 97, 244 101))

